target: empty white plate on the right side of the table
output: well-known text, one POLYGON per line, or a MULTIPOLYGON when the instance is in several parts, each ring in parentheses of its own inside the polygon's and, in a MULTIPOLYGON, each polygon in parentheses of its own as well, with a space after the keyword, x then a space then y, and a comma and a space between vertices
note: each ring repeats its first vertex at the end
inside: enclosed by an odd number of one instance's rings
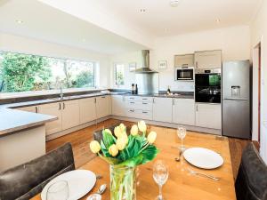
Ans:
POLYGON ((223 165, 223 157, 207 148, 188 148, 183 157, 190 164, 203 169, 214 169, 223 165))

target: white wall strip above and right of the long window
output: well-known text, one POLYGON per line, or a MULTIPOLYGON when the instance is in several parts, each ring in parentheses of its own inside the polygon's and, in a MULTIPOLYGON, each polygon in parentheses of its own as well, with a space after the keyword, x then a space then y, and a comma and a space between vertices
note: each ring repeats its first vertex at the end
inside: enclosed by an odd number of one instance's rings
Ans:
POLYGON ((105 54, 4 33, 0 33, 0 51, 24 52, 55 58, 96 61, 99 63, 98 73, 103 77, 101 81, 98 80, 98 86, 109 87, 110 58, 105 54))

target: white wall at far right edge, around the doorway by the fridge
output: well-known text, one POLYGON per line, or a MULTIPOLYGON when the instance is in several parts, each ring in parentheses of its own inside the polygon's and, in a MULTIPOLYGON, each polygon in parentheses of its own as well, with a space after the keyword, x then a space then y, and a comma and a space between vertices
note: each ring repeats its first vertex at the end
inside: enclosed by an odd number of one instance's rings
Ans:
MULTIPOLYGON (((267 164, 267 1, 263 1, 261 9, 257 13, 255 20, 251 25, 251 49, 254 49, 257 44, 261 42, 262 45, 262 109, 261 109, 261 155, 265 163, 267 164)), ((257 73, 257 68, 254 68, 254 72, 257 73)), ((257 90, 258 79, 255 76, 254 80, 254 90, 257 90)), ((254 93, 254 100, 257 101, 257 93, 254 93)), ((256 108, 253 107, 255 110, 256 108)), ((254 112, 254 115, 257 113, 254 112)), ((256 120, 253 119, 253 120, 256 120)), ((256 129, 254 127, 254 137, 256 138, 256 129)))

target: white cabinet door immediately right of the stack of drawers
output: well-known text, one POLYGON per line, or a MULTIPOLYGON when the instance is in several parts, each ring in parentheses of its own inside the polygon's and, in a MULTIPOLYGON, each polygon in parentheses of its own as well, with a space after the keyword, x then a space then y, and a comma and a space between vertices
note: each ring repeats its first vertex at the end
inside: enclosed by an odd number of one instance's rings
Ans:
POLYGON ((173 99, 154 98, 153 99, 153 120, 158 122, 172 123, 173 99))

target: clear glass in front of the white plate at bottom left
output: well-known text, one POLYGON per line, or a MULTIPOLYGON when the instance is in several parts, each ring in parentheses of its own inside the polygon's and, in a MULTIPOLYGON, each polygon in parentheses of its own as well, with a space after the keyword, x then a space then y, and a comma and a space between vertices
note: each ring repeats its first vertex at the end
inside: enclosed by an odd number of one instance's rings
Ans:
POLYGON ((69 184, 67 180, 56 181, 47 189, 46 200, 67 199, 69 199, 69 184))

